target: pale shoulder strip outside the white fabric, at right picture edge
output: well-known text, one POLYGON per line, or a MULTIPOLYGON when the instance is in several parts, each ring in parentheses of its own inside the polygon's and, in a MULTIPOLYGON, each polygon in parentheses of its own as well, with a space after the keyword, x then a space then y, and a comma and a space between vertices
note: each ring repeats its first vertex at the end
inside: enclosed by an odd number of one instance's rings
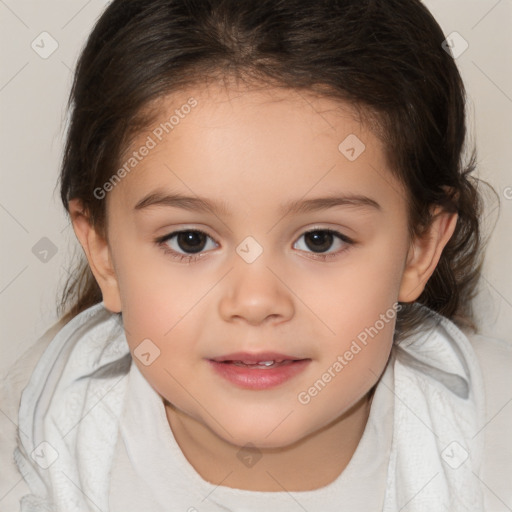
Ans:
POLYGON ((512 488, 512 341, 465 333, 478 358, 485 388, 481 479, 488 510, 511 510, 512 488), (505 505, 506 504, 506 505, 505 505))

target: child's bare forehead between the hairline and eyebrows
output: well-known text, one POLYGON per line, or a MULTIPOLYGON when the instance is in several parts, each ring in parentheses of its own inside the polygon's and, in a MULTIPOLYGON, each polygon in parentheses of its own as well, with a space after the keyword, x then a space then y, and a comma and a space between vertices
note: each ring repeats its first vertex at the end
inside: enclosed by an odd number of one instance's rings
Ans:
POLYGON ((151 109, 153 122, 120 162, 128 172, 113 195, 126 207, 165 185, 229 203, 233 193, 296 198, 340 182, 358 193, 365 182, 393 181, 381 141, 356 110, 312 92, 215 83, 151 109))

